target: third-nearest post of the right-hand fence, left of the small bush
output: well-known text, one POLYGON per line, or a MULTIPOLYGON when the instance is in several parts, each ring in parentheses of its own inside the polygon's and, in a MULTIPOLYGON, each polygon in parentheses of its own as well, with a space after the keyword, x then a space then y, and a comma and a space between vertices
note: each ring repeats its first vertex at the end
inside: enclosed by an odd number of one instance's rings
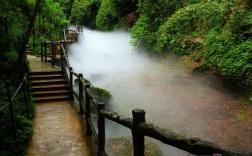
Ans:
POLYGON ((91 135, 92 131, 88 123, 88 120, 90 119, 90 96, 87 92, 88 89, 90 89, 89 83, 85 85, 85 110, 86 110, 85 119, 86 119, 86 135, 91 135))

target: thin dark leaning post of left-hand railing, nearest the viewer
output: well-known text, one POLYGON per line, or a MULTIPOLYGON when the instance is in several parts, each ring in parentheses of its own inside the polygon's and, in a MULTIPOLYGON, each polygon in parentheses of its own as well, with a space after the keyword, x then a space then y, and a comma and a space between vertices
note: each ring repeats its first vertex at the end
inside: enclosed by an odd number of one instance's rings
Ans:
POLYGON ((15 126, 15 121, 14 121, 14 112, 13 112, 13 107, 12 107, 12 101, 11 101, 11 95, 10 95, 10 86, 9 83, 6 83, 7 87, 7 94, 8 94, 8 100, 9 100, 9 106, 10 106, 10 117, 11 117, 11 124, 12 124, 12 129, 13 129, 13 138, 15 141, 15 147, 17 149, 17 134, 16 134, 16 126, 15 126))

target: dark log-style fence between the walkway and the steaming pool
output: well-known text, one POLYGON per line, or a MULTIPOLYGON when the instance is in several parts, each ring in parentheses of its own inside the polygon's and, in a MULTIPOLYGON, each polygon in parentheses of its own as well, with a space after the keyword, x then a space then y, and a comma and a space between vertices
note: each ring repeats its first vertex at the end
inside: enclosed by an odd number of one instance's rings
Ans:
MULTIPOLYGON (((56 42, 55 42, 56 43, 56 42)), ((54 44, 55 44, 54 43, 54 44)), ((159 140, 165 144, 176 147, 194 155, 213 155, 221 154, 223 156, 252 156, 252 153, 246 153, 234 149, 222 148, 214 143, 203 141, 199 138, 187 138, 169 130, 159 128, 153 124, 145 122, 145 111, 142 109, 132 110, 133 118, 124 118, 116 112, 105 110, 105 104, 98 102, 90 89, 90 82, 83 78, 81 73, 74 72, 68 61, 65 50, 67 42, 57 42, 60 45, 61 69, 68 77, 71 97, 75 97, 79 102, 79 113, 85 116, 86 135, 92 135, 97 144, 97 153, 99 156, 106 156, 105 152, 105 119, 114 121, 124 127, 131 129, 133 137, 134 156, 144 156, 144 137, 148 136, 159 140), (73 79, 78 79, 78 92, 73 89, 73 79), (91 104, 98 112, 97 129, 91 121, 91 104)), ((51 45, 53 46, 53 45, 51 45)))

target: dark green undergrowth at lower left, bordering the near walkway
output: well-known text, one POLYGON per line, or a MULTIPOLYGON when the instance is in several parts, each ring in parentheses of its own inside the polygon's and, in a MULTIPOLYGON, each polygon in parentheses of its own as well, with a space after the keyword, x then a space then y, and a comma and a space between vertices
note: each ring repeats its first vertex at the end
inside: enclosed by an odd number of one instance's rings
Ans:
MULTIPOLYGON (((0 83, 1 91, 6 91, 4 85, 5 80, 2 80, 0 83)), ((12 88, 17 88, 16 86, 11 86, 12 88)), ((13 114, 14 114, 14 123, 16 129, 17 137, 17 147, 15 147, 15 141, 13 138, 13 126, 11 124, 9 106, 3 108, 7 104, 6 92, 1 92, 0 99, 0 155, 24 155, 26 145, 32 134, 32 119, 34 114, 34 104, 29 97, 26 97, 28 101, 27 108, 25 105, 23 90, 21 89, 18 92, 17 96, 13 99, 13 114), (3 109, 2 109, 3 108, 3 109), (29 115, 27 114, 29 112, 29 115)))

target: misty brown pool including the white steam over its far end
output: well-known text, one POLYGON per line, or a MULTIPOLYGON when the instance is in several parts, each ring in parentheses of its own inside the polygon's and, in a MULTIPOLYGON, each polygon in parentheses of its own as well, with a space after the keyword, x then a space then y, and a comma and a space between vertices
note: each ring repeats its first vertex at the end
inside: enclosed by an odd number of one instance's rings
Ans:
POLYGON ((215 79, 180 71, 176 56, 157 61, 132 47, 130 40, 124 31, 84 29, 79 42, 70 46, 70 64, 94 86, 108 90, 113 110, 125 117, 131 117, 132 109, 142 108, 147 122, 159 127, 235 146, 239 138, 230 138, 239 133, 239 127, 233 127, 236 131, 223 127, 223 121, 229 123, 233 115, 226 110, 233 109, 234 95, 218 87, 215 79))

